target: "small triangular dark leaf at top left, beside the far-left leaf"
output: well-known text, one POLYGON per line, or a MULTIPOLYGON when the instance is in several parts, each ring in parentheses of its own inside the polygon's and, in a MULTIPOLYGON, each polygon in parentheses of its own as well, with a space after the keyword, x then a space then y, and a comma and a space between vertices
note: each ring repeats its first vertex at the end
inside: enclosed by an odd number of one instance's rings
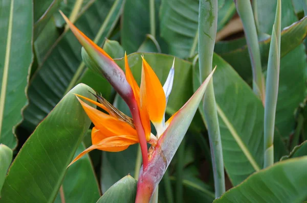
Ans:
POLYGON ((53 13, 58 10, 60 3, 61 0, 33 1, 34 40, 38 37, 43 28, 45 28, 53 13))

